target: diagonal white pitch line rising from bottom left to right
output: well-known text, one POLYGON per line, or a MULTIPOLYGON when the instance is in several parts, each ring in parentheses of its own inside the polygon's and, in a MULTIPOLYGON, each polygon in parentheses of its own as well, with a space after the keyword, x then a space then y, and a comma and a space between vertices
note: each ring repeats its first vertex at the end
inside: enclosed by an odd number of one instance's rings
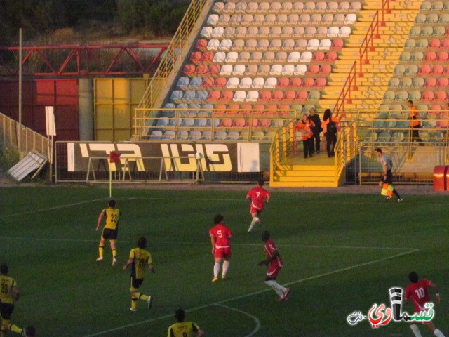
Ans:
MULTIPOLYGON (((412 249, 410 251, 405 251, 403 253, 398 253, 398 254, 395 254, 395 255, 392 255, 392 256, 387 256, 386 258, 379 258, 377 260, 372 260, 372 261, 369 261, 369 262, 366 262, 366 263, 358 263, 357 265, 351 265, 350 267, 345 267, 345 268, 333 270, 331 272, 324 272, 323 274, 314 275, 314 276, 311 276, 311 277, 306 277, 304 279, 298 279, 298 280, 293 281, 293 282, 288 282, 288 283, 286 283, 284 285, 285 286, 290 286, 291 284, 298 284, 298 283, 309 281, 311 279, 318 279, 320 277, 326 277, 326 276, 329 276, 329 275, 337 274, 338 272, 346 272, 347 270, 353 270, 353 269, 356 269, 358 267, 365 267, 366 265, 373 265, 375 263, 380 263, 382 261, 390 260, 392 258, 397 258, 399 256, 404 256, 404 255, 407 255, 407 254, 410 254, 410 253, 415 253, 416 251, 419 251, 419 249, 412 249)), ((269 288, 269 289, 264 289, 264 290, 260 290, 260 291, 255 291, 253 293, 247 293, 246 295, 236 296, 236 297, 233 297, 233 298, 228 298, 227 300, 222 300, 220 302, 215 302, 215 303, 210 303, 210 304, 206 304, 206 305, 201 305, 200 307, 192 308, 192 309, 189 309, 187 311, 191 312, 191 311, 201 310, 201 309, 204 309, 204 308, 208 308, 208 307, 210 307, 212 305, 222 305, 223 303, 227 303, 227 302, 230 302, 232 300, 240 300, 242 298, 247 298, 247 297, 250 297, 250 296, 259 295, 260 293, 265 293, 267 291, 272 291, 272 289, 269 288)), ((227 308, 230 308, 230 307, 227 307, 227 308)), ((109 329, 109 330, 106 330, 106 331, 100 331, 98 333, 93 333, 91 335, 86 335, 84 337, 101 336, 101 335, 104 335, 105 333, 111 333, 111 332, 114 332, 114 331, 119 331, 121 329, 129 328, 131 326, 137 326, 137 325, 140 325, 140 324, 154 322, 154 321, 157 321, 157 320, 160 320, 160 319, 166 319, 168 317, 173 317, 173 314, 165 315, 165 316, 161 316, 161 317, 156 317, 156 318, 153 318, 153 319, 145 319, 145 321, 141 321, 141 322, 137 322, 137 323, 133 323, 133 324, 127 324, 127 325, 123 325, 123 326, 118 326, 118 327, 116 327, 114 329, 109 329)), ((252 336, 252 335, 245 335, 245 336, 252 336)))

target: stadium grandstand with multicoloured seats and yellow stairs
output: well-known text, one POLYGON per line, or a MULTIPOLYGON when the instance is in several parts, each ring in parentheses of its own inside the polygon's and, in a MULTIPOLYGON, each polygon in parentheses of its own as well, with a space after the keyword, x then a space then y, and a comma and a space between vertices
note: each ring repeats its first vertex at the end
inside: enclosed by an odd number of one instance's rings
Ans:
POLYGON ((185 165, 206 179, 274 187, 377 183, 373 149, 382 147, 396 182, 431 183, 449 161, 448 48, 448 1, 192 0, 132 107, 126 140, 160 144, 149 157, 201 153, 185 165), (335 157, 299 155, 295 121, 311 107, 340 118, 335 157))

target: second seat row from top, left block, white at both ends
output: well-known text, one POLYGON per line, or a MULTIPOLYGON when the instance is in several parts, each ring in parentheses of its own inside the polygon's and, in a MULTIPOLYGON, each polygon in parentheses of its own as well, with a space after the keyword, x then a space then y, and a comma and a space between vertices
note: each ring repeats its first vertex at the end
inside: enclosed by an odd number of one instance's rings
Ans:
MULTIPOLYGON (((207 25, 217 26, 217 25, 299 25, 299 24, 314 24, 314 23, 325 23, 325 24, 345 24, 354 25, 357 21, 357 15, 354 13, 349 13, 344 15, 340 14, 210 14, 206 21, 207 25)), ((443 22, 443 21, 442 21, 443 22)))

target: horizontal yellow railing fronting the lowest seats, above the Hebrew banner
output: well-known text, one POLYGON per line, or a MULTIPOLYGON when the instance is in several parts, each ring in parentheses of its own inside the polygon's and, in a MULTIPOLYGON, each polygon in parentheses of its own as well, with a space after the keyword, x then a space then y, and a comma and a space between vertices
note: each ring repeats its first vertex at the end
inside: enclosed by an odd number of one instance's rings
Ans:
POLYGON ((139 140, 243 140, 271 142, 295 110, 142 109, 134 137, 139 140), (147 117, 160 114, 166 117, 147 117), (143 133, 145 131, 145 134, 143 133), (195 133, 192 133, 196 131, 195 133), (199 132, 198 132, 199 131, 199 132))

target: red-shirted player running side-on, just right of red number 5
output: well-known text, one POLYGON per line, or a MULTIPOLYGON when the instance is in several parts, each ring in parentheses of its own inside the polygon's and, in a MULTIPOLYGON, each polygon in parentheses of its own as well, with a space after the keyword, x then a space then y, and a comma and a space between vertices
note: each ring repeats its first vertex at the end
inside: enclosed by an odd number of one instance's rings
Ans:
POLYGON ((276 277, 278 276, 281 268, 283 266, 283 261, 279 255, 279 251, 276 244, 272 239, 269 238, 269 232, 264 230, 262 232, 262 241, 265 242, 265 255, 267 255, 266 260, 260 261, 259 265, 268 265, 267 277, 265 278, 265 284, 271 286, 274 291, 279 295, 278 301, 283 301, 288 299, 290 295, 290 289, 285 286, 281 286, 276 282, 276 277))

